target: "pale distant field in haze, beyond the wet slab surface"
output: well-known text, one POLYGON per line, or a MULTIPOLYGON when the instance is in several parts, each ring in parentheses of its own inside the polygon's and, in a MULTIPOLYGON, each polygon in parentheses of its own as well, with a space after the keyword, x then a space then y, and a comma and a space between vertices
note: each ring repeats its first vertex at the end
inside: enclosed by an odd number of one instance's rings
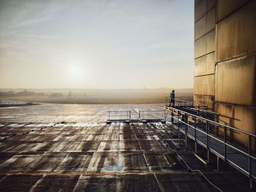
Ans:
MULTIPOLYGON (((15 101, 56 103, 56 104, 152 104, 164 103, 165 96, 170 95, 167 89, 146 90, 116 90, 116 91, 88 91, 86 93, 75 93, 72 97, 66 95, 58 98, 51 96, 0 96, 0 99, 15 101)), ((193 91, 176 91, 176 98, 181 96, 193 96, 193 91)))

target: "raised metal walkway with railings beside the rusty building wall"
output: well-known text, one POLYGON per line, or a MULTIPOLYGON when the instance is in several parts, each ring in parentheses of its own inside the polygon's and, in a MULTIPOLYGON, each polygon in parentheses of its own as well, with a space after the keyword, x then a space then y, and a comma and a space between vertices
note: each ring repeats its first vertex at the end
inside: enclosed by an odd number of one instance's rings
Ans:
MULTIPOLYGON (((214 119, 219 114, 207 110, 203 104, 178 100, 175 105, 170 106, 170 98, 167 97, 165 110, 170 112, 173 126, 185 134, 186 139, 190 138, 206 148, 208 161, 209 153, 214 153, 218 159, 222 158, 249 177, 252 185, 252 180, 256 180, 255 134, 215 122, 214 119), (222 133, 217 134, 218 130, 222 130, 222 133), (248 145, 230 142, 230 133, 241 134, 248 140, 248 145)), ((195 147, 195 153, 196 150, 195 147)))

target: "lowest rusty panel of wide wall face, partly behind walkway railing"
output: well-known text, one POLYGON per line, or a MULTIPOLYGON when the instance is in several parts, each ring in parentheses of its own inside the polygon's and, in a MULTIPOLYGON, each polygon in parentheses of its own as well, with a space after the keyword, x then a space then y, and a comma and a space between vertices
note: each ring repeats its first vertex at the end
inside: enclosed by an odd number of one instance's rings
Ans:
MULTIPOLYGON (((256 134, 256 109, 252 107, 236 106, 232 104, 215 104, 215 112, 219 112, 219 123, 232 126, 251 134, 256 134)), ((223 135, 224 130, 220 129, 219 134, 223 135)), ((236 132, 227 131, 230 142, 240 143, 248 146, 248 136, 236 132)), ((252 150, 256 149, 255 140, 252 140, 252 150)))

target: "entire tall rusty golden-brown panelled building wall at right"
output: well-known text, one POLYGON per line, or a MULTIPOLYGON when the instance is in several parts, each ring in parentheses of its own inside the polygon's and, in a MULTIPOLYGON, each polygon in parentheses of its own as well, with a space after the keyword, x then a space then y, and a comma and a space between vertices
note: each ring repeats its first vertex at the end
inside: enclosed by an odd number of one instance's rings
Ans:
MULTIPOLYGON (((195 101, 256 134, 256 1, 195 1, 195 101)), ((230 141, 247 146, 243 134, 230 141)), ((255 141, 252 142, 254 147, 255 141)))

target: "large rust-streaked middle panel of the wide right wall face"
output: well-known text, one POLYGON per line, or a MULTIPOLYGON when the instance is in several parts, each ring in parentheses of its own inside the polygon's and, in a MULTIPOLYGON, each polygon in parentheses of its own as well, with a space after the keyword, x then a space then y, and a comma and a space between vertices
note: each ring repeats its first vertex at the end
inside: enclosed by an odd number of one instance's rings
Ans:
POLYGON ((217 64, 216 100, 256 107, 256 54, 217 64))

